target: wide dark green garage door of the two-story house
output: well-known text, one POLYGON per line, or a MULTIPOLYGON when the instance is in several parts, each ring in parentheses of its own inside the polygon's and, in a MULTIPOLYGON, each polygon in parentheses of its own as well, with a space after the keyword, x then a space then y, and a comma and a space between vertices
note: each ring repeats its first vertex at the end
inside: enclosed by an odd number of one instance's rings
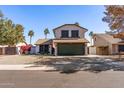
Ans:
POLYGON ((84 55, 83 44, 58 44, 58 55, 84 55))

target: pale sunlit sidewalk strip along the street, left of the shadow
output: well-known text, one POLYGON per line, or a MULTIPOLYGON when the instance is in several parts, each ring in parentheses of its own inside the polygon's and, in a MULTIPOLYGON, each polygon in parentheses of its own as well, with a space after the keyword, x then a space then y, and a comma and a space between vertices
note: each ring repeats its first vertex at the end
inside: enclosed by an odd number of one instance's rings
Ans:
POLYGON ((34 66, 34 65, 0 65, 0 70, 56 70, 48 66, 34 66))

